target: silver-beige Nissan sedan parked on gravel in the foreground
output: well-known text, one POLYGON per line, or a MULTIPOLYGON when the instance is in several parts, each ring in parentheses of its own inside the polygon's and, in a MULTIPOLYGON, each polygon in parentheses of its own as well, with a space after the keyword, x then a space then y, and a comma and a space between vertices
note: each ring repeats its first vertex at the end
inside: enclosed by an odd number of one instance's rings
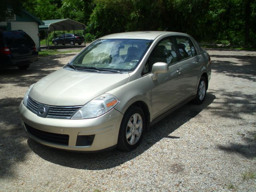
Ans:
POLYGON ((188 34, 104 36, 30 86, 19 111, 28 135, 63 150, 133 150, 183 104, 204 102, 210 56, 188 34))

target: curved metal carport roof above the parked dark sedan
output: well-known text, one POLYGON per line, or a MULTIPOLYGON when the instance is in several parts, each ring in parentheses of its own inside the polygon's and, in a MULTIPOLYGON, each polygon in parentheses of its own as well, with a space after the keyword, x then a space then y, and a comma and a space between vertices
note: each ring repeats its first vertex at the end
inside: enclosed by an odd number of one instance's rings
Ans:
POLYGON ((72 19, 44 20, 43 22, 44 22, 44 25, 40 25, 39 30, 48 30, 48 31, 86 30, 85 24, 74 21, 72 19))

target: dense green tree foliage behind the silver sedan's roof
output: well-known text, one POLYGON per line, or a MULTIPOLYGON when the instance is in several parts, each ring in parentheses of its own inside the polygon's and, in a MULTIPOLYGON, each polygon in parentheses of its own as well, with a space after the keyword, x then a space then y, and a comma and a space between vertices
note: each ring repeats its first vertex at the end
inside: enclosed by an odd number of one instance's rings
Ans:
POLYGON ((198 41, 256 47, 256 0, 23 0, 41 20, 70 18, 87 25, 86 37, 165 30, 198 41))

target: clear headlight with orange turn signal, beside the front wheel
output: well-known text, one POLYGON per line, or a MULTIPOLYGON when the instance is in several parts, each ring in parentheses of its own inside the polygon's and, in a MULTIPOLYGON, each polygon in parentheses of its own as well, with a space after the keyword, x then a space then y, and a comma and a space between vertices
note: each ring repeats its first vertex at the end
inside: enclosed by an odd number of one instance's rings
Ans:
POLYGON ((102 94, 78 110, 71 119, 88 119, 101 116, 111 110, 119 100, 111 94, 102 94))

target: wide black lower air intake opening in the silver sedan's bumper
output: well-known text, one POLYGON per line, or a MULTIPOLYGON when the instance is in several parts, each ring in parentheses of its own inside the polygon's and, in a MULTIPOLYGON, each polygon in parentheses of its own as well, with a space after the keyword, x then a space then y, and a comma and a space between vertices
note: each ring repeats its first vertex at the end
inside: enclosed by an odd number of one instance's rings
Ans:
POLYGON ((32 128, 26 123, 24 124, 26 126, 26 130, 36 138, 46 142, 50 142, 52 144, 60 144, 60 145, 68 146, 69 135, 41 131, 41 130, 32 128))

